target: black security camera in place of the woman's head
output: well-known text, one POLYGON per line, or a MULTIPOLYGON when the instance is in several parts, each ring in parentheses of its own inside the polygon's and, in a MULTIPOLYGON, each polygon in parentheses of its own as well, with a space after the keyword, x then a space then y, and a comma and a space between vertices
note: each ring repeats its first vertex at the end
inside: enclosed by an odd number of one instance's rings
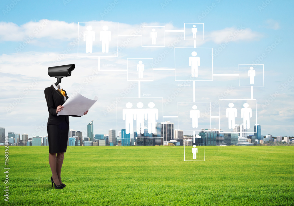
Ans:
POLYGON ((55 85, 57 86, 57 84, 61 82, 61 78, 71 76, 71 71, 74 70, 74 68, 75 68, 74 64, 48 67, 48 75, 50 77, 57 78, 57 82, 55 83, 55 85))

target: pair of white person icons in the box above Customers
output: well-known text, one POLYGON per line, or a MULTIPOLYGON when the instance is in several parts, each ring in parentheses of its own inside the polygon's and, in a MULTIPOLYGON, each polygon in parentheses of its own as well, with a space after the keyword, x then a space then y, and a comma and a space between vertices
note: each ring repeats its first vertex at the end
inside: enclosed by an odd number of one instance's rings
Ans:
MULTIPOLYGON (((95 41, 95 31, 92 31, 92 26, 86 27, 87 31, 83 33, 83 39, 86 41, 86 53, 93 52, 93 41, 95 41)), ((99 32, 100 38, 102 41, 102 53, 108 53, 109 51, 109 41, 111 41, 111 31, 108 31, 108 26, 104 25, 102 27, 103 31, 99 32)))

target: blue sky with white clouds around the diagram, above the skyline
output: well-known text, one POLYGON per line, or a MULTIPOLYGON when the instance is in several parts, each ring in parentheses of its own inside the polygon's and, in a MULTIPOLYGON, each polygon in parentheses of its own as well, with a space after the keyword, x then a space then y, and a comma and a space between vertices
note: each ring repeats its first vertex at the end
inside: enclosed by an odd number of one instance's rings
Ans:
MULTIPOLYGON (((86 131, 86 125, 92 119, 95 134, 104 134, 108 129, 116 128, 116 109, 106 115, 103 111, 136 82, 126 81, 126 72, 99 72, 93 81, 87 85, 83 83, 97 70, 98 59, 77 57, 75 40, 79 21, 118 21, 119 34, 129 34, 141 28, 142 23, 166 26, 167 30, 183 30, 184 23, 204 23, 205 40, 197 42, 197 47, 213 48, 214 54, 218 49, 222 50, 213 58, 213 73, 237 74, 238 64, 264 64, 264 87, 253 88, 262 134, 294 136, 293 4, 293 1, 275 0, 2 1, 0 127, 6 128, 6 134, 11 131, 27 133, 29 137, 46 135, 44 125, 48 112, 44 88, 55 82, 47 75, 47 68, 56 66, 57 60, 60 65, 76 64, 73 75, 64 78, 61 83, 68 94, 83 85, 86 89, 80 92, 82 95, 99 97, 88 115, 80 119, 70 118, 70 128, 86 131), (35 29, 42 24, 44 27, 36 33, 35 29), (230 40, 228 36, 238 28, 243 29, 230 40), (30 35, 33 38, 24 45, 23 42, 30 35), (228 41, 228 45, 222 49, 225 41, 228 41), (67 48, 70 51, 59 61, 58 57, 67 48), (33 86, 34 81, 38 82, 36 86, 33 86), (24 95, 24 98, 7 110, 19 95, 24 95)), ((174 50, 169 49, 168 45, 172 45, 181 35, 183 32, 166 33, 166 47, 162 48, 141 47, 141 37, 132 38, 118 57, 101 58, 101 69, 126 69, 126 58, 154 60, 165 50, 168 51, 167 57, 154 68, 174 68, 174 50), (103 67, 103 64, 116 64, 116 67, 103 67)), ((122 45, 126 37, 119 37, 118 41, 118 45, 122 45)), ((176 47, 193 47, 193 41, 181 40, 176 47)), ((173 72, 156 71, 153 82, 141 83, 141 95, 150 93, 151 97, 163 97, 163 101, 167 101, 178 89, 173 72)), ((216 76, 213 82, 196 82, 196 99, 214 102, 229 86, 235 89, 226 96, 227 99, 250 99, 250 87, 241 88, 238 78, 225 76, 216 76)), ((182 90, 164 108, 164 116, 177 115, 177 102, 193 100, 193 86, 182 90)), ((138 87, 127 93, 126 97, 138 97, 138 87)), ((216 108, 211 110, 213 116, 218 115, 216 108)), ((165 118, 164 121, 175 122, 177 127, 176 118, 165 118)), ((218 119, 213 119, 212 127, 216 126, 218 119)))

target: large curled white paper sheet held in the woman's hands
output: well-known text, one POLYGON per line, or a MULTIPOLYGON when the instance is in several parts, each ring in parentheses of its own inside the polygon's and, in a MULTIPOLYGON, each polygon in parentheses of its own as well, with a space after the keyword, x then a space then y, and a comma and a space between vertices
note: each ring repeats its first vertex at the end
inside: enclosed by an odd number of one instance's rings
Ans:
POLYGON ((64 102, 62 106, 63 110, 57 113, 57 116, 59 115, 77 115, 77 116, 83 116, 84 112, 86 112, 88 109, 90 109, 95 102, 97 102, 98 97, 95 96, 94 99, 88 99, 84 97, 83 95, 77 93, 75 96, 69 97, 69 99, 64 102))

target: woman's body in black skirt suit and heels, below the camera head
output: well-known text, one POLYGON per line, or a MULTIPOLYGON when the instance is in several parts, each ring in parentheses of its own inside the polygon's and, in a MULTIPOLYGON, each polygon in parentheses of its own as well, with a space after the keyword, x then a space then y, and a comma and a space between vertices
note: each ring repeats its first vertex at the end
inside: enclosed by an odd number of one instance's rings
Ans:
MULTIPOLYGON (((51 87, 44 90, 48 106, 49 118, 47 122, 47 134, 49 143, 49 165, 52 172, 51 182, 55 189, 62 189, 65 184, 61 182, 61 167, 66 152, 67 138, 69 134, 69 116, 81 117, 75 115, 59 115, 63 110, 62 105, 69 98, 60 85, 53 83, 51 87)), ((84 114, 87 114, 86 111, 84 114)), ((52 186, 53 187, 53 186, 52 186)))

